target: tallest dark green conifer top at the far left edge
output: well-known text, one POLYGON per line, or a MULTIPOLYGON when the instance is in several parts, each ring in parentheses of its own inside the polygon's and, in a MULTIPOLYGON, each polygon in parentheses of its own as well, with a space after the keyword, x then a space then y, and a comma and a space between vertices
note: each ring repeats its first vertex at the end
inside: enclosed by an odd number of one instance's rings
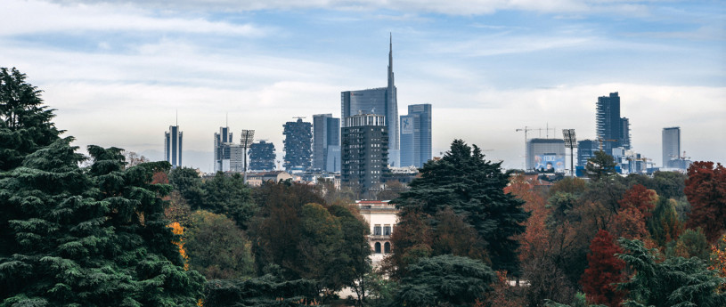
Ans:
POLYGON ((41 91, 25 79, 18 69, 0 68, 0 172, 20 166, 62 133, 51 122, 53 109, 42 105, 41 91))

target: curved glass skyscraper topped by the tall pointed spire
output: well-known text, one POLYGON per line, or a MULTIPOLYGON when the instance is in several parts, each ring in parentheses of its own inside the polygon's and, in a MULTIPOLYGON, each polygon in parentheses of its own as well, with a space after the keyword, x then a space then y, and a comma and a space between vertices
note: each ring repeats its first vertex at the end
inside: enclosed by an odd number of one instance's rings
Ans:
POLYGON ((343 118, 361 113, 392 118, 392 120, 387 120, 390 158, 388 162, 391 166, 400 166, 398 120, 396 120, 398 118, 398 101, 393 74, 393 38, 388 44, 388 85, 361 91, 342 92, 340 101, 340 114, 343 118))

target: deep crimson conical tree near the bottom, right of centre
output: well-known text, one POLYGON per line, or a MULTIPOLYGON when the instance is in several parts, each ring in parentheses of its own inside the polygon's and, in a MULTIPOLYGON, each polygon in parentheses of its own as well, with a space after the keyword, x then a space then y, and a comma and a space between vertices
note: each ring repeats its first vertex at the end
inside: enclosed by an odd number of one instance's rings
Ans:
POLYGON ((591 241, 588 268, 581 280, 583 291, 591 303, 616 307, 623 301, 624 293, 616 290, 616 284, 625 280, 625 263, 616 257, 619 253, 623 253, 623 249, 615 244, 610 233, 598 231, 591 241))

